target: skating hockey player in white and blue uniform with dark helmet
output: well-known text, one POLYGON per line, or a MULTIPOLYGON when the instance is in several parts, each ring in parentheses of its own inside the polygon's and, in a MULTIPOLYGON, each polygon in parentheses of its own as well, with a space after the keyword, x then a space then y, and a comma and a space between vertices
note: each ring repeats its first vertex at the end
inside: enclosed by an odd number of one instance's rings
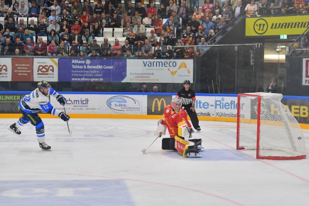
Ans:
POLYGON ((35 126, 37 140, 43 151, 51 151, 51 147, 45 143, 44 123, 38 116, 37 112, 43 110, 46 113, 58 115, 63 121, 69 121, 70 119, 67 114, 57 110, 50 104, 49 96, 56 97, 57 101, 61 105, 65 105, 66 103, 66 99, 51 88, 48 82, 40 81, 37 83, 37 88, 35 90, 33 90, 30 94, 25 95, 19 101, 22 117, 8 127, 8 130, 20 135, 21 132, 19 131, 19 128, 30 122, 33 126, 35 126))

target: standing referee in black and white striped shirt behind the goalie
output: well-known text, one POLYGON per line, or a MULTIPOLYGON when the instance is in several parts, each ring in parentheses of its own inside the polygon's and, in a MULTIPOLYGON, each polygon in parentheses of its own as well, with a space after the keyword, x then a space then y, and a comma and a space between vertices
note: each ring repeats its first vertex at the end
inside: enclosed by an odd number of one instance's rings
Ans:
POLYGON ((192 89, 190 89, 190 85, 191 83, 189 80, 184 80, 183 88, 178 91, 176 97, 179 97, 181 99, 182 106, 187 111, 194 129, 196 129, 197 132, 200 132, 201 128, 198 125, 197 114, 194 108, 195 92, 192 89))

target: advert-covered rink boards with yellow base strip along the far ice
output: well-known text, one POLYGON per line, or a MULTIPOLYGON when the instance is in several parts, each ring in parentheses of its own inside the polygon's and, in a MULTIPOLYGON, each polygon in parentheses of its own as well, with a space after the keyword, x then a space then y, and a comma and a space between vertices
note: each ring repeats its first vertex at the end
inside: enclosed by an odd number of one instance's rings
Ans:
MULTIPOLYGON (((0 118, 16 118, 19 100, 29 92, 0 92, 0 118)), ((67 99, 66 112, 72 118, 124 118, 159 119, 165 105, 176 94, 170 93, 116 93, 116 92, 61 92, 67 99)), ((55 98, 51 104, 59 110, 63 107, 55 98)), ((284 96, 282 103, 304 129, 309 129, 309 98, 284 96)), ((196 94, 196 113, 200 120, 237 121, 237 95, 196 94)), ((41 114, 52 118, 49 114, 41 114)))

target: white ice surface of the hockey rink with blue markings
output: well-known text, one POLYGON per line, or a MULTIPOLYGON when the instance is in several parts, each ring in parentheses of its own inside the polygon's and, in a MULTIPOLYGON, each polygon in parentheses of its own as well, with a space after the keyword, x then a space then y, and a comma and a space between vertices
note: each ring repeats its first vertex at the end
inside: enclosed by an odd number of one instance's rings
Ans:
MULTIPOLYGON (((308 206, 309 157, 257 160, 237 151, 236 123, 200 121, 202 158, 154 141, 157 120, 43 119, 20 136, 0 119, 0 206, 308 206)), ((309 155, 309 130, 303 130, 309 155)))

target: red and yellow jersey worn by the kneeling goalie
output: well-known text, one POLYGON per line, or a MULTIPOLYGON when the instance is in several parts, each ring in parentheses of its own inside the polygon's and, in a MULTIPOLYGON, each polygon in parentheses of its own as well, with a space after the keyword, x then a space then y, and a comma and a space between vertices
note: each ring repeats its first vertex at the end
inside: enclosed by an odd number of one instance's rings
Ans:
POLYGON ((166 125, 169 136, 174 138, 175 135, 178 135, 178 127, 191 127, 187 116, 188 114, 184 109, 180 109, 176 113, 171 105, 166 105, 161 124, 166 125))

